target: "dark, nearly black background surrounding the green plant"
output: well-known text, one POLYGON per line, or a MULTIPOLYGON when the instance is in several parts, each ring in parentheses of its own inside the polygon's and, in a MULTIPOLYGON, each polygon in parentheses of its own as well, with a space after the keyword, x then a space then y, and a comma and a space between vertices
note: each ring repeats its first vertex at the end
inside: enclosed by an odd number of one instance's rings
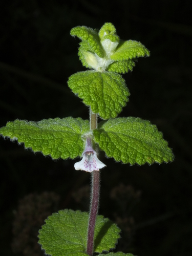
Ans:
MULTIPOLYGON (((0 126, 15 119, 89 118, 87 106, 67 86, 70 75, 84 70, 79 40, 70 36, 75 26, 99 29, 112 22, 120 38, 141 41, 151 51, 123 76, 131 96, 120 116, 157 124, 175 161, 130 166, 101 156, 108 167, 101 170, 99 214, 122 228, 117 250, 192 255, 191 1, 14 0, 0 5, 0 126)), ((89 210, 90 174, 74 170, 74 162, 53 161, 0 139, 1 255, 42 255, 35 247, 42 211, 89 210)))

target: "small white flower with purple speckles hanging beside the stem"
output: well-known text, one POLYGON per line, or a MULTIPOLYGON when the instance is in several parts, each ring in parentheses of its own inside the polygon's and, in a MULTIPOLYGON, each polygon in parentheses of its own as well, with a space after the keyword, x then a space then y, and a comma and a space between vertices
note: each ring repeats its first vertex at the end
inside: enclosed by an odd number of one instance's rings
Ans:
POLYGON ((75 163, 76 170, 85 170, 86 172, 93 172, 106 166, 97 158, 97 153, 93 150, 91 145, 91 138, 86 140, 86 149, 82 153, 82 160, 75 163))

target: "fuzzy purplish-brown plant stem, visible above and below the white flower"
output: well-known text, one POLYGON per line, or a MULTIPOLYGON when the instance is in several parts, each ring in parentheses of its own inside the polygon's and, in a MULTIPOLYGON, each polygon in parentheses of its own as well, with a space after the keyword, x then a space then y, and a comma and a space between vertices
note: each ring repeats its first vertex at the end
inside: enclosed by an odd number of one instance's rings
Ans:
MULTIPOLYGON (((94 130, 97 128, 97 114, 94 114, 90 108, 90 129, 94 130)), ((95 222, 98 212, 99 203, 99 178, 100 172, 94 170, 92 172, 92 193, 91 193, 91 208, 89 216, 89 226, 88 226, 88 243, 87 243, 87 253, 88 255, 93 255, 94 247, 94 229, 95 222)))

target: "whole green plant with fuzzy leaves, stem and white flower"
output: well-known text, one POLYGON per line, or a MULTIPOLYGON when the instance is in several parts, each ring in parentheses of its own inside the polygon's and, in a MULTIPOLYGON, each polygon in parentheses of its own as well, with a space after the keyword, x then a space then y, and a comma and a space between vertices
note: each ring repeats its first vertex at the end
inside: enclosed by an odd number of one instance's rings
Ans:
MULTIPOLYGON (((39 244, 52 256, 103 255, 102 252, 106 254, 115 248, 120 229, 97 216, 99 170, 106 166, 98 159, 99 150, 107 157, 131 165, 169 162, 174 156, 162 133, 150 121, 116 118, 130 95, 121 74, 132 71, 137 58, 149 56, 150 52, 140 42, 121 40, 111 23, 105 23, 99 31, 75 27, 71 35, 81 39, 79 59, 90 70, 70 76, 68 86, 90 106, 90 120, 72 117, 39 122, 15 120, 2 127, 0 133, 53 159, 82 157, 74 167, 92 173, 90 214, 70 209, 53 214, 39 230, 39 244), (103 119, 99 123, 98 116, 103 119)), ((108 253, 115 255, 132 256, 108 253)))

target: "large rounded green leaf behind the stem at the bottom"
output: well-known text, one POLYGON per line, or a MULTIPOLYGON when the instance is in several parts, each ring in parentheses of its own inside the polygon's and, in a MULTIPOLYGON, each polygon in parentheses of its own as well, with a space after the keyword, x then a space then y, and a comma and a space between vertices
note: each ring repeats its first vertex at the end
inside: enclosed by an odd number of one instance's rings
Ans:
MULTIPOLYGON (((52 256, 86 253, 88 212, 60 210, 48 217, 39 230, 39 243, 52 256)), ((115 248, 120 229, 109 219, 97 216, 94 233, 94 251, 109 251, 115 248)), ((84 254, 76 254, 84 255, 84 254)))

